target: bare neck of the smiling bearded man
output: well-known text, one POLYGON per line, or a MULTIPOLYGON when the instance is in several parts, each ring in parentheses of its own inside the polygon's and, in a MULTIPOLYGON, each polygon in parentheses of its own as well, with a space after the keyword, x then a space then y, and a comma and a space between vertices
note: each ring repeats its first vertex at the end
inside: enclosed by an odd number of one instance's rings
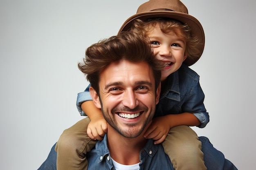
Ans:
POLYGON ((112 159, 123 165, 139 163, 140 151, 147 142, 143 134, 136 138, 126 138, 108 127, 108 149, 112 159))

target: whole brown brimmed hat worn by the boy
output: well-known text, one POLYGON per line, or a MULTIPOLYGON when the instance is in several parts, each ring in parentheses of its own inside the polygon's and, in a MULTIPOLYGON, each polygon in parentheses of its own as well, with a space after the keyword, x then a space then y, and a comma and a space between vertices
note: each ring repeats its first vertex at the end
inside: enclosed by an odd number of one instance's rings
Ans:
POLYGON ((124 22, 119 29, 118 34, 121 31, 127 31, 130 29, 132 21, 135 19, 143 20, 155 17, 172 18, 179 20, 190 27, 191 34, 198 37, 202 46, 200 47, 200 54, 198 56, 187 57, 184 63, 187 66, 191 66, 197 62, 204 51, 204 29, 195 17, 189 15, 188 9, 180 0, 149 0, 144 4, 141 4, 137 13, 124 22))

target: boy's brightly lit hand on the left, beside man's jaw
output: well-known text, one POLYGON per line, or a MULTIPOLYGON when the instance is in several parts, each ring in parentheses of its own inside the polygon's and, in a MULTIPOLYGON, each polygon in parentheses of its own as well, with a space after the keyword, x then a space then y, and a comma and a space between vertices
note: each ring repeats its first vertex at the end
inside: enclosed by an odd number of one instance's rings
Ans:
POLYGON ((93 140, 102 140, 105 133, 108 132, 107 121, 103 115, 91 119, 87 128, 87 135, 93 140))

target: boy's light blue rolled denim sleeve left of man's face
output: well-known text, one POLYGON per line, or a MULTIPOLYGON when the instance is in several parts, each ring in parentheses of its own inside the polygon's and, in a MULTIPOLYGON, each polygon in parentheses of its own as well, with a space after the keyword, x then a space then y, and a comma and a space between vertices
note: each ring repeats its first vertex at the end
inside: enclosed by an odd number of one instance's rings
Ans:
POLYGON ((91 86, 91 84, 89 84, 87 86, 87 88, 85 88, 85 91, 81 92, 81 93, 78 93, 77 94, 77 99, 76 99, 76 108, 77 110, 79 111, 79 113, 81 114, 81 116, 87 116, 82 108, 81 108, 81 104, 85 101, 88 101, 88 100, 92 100, 92 97, 90 95, 90 92, 89 92, 89 87, 91 86))

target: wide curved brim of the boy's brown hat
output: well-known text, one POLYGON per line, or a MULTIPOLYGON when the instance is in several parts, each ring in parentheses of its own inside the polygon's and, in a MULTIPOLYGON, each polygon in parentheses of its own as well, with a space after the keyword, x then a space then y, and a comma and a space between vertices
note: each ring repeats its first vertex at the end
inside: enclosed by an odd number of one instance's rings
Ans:
POLYGON ((184 64, 187 66, 193 65, 195 62, 199 60, 201 57, 203 51, 204 51, 204 43, 205 43, 205 37, 204 37, 204 30, 200 22, 193 17, 192 15, 181 13, 181 12, 175 12, 175 11, 148 11, 148 12, 141 12, 137 13, 135 15, 132 15, 130 18, 128 18, 124 24, 121 26, 121 28, 118 31, 118 34, 121 31, 128 31, 132 25, 132 22, 135 19, 148 19, 148 18, 158 18, 158 17, 164 17, 164 18, 172 18, 175 20, 178 20, 184 24, 187 24, 191 29, 191 34, 195 35, 198 40, 200 41, 201 47, 200 47, 200 54, 198 56, 193 57, 187 57, 184 61, 184 64))

